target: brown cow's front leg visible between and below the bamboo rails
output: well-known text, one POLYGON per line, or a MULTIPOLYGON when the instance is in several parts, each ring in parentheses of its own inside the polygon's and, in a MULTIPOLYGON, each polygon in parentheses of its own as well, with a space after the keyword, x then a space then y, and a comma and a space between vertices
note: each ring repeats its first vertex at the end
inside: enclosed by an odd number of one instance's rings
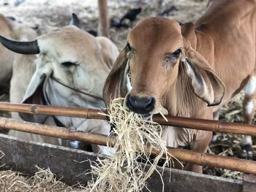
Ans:
MULTIPOLYGON (((197 150, 200 153, 205 153, 209 143, 211 142, 211 131, 197 131, 195 140, 191 143, 191 150, 197 150)), ((185 167, 187 171, 202 173, 203 166, 188 163, 185 167)))

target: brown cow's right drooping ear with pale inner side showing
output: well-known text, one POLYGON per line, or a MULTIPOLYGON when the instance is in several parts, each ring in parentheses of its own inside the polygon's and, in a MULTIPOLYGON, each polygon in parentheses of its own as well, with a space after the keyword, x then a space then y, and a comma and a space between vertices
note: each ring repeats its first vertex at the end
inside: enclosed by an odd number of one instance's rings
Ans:
POLYGON ((211 69, 206 59, 189 47, 188 50, 185 50, 185 56, 181 62, 191 78, 195 94, 206 101, 208 106, 220 104, 225 93, 225 85, 211 69))

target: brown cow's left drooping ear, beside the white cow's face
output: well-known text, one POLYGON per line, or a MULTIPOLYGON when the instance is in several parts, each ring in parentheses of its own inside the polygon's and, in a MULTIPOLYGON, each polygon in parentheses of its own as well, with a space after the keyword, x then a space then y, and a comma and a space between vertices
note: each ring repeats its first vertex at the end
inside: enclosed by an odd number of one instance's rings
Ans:
POLYGON ((115 64, 105 81, 103 99, 106 107, 109 107, 111 99, 127 95, 127 72, 129 68, 127 61, 127 51, 124 48, 116 58, 115 64))

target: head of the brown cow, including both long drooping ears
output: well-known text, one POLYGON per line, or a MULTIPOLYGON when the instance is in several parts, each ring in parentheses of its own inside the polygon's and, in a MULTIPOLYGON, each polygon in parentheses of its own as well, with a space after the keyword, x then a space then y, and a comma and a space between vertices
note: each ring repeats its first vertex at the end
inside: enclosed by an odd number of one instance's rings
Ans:
POLYGON ((222 100, 225 86, 182 36, 181 26, 166 18, 146 18, 129 32, 127 45, 105 82, 104 99, 109 104, 110 99, 122 96, 124 106, 133 112, 166 114, 170 92, 184 89, 176 88, 183 77, 192 93, 208 105, 222 100), (127 76, 132 85, 129 91, 127 76))

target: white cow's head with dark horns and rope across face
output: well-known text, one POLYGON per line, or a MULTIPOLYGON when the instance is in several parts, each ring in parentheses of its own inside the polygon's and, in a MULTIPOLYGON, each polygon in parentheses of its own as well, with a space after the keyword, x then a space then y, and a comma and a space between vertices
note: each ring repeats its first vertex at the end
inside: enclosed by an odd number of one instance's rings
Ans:
MULTIPOLYGON (((106 57, 103 50, 107 47, 106 42, 111 44, 110 47, 116 48, 115 45, 106 38, 91 36, 78 26, 78 18, 72 15, 70 26, 37 37, 33 42, 15 42, 0 37, 0 42, 16 53, 37 54, 37 68, 26 89, 23 103, 105 107, 103 101, 95 98, 102 98, 102 88, 110 72, 107 63, 111 57, 114 61, 118 53, 114 55, 109 51, 106 57)), ((26 120, 42 123, 44 117, 37 117, 40 119, 23 115, 26 120)))

